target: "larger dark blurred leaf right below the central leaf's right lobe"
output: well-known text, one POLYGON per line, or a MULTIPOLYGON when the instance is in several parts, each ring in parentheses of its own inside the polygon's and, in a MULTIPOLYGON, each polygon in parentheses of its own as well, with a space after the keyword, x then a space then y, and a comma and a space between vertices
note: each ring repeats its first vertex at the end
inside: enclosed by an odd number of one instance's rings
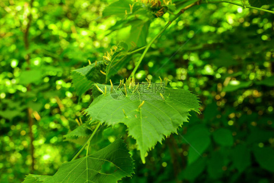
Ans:
POLYGON ((194 163, 210 145, 210 133, 203 125, 196 125, 187 130, 184 141, 190 145, 188 164, 191 164, 194 163))

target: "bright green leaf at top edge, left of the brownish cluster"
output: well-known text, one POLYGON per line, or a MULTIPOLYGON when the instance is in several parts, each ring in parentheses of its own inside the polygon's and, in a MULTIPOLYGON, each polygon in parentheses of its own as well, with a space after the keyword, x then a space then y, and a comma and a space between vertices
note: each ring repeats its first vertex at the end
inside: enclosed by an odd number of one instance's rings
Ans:
POLYGON ((116 15, 118 17, 125 16, 125 11, 130 13, 130 6, 129 4, 133 4, 131 0, 118 0, 109 6, 107 6, 103 11, 103 17, 116 15))

